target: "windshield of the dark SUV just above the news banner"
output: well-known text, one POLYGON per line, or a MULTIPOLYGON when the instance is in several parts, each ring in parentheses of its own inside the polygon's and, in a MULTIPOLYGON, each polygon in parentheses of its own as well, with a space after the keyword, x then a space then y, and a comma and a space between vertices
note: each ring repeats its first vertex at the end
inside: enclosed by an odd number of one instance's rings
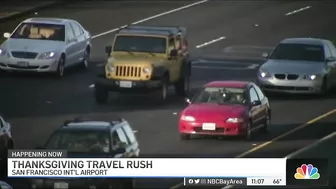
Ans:
POLYGON ((59 131, 51 136, 45 148, 65 149, 70 153, 108 153, 110 139, 103 131, 59 131))

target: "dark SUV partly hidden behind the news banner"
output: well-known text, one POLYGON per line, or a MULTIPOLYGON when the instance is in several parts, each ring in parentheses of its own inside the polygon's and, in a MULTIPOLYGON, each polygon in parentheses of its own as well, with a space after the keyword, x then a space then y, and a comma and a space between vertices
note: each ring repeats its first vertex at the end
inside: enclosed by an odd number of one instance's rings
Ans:
MULTIPOLYGON (((111 122, 75 118, 58 128, 39 149, 66 149, 69 158, 136 158, 139 143, 124 119, 111 122)), ((43 178, 32 179, 32 188, 134 188, 134 179, 43 178)))

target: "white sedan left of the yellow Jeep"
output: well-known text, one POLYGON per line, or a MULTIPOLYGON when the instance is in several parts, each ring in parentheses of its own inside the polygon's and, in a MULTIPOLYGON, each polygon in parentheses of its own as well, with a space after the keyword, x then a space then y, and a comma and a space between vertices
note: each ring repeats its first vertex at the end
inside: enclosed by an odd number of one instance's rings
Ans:
POLYGON ((69 66, 89 66, 91 36, 75 20, 29 18, 4 37, 7 40, 0 46, 2 70, 52 72, 61 77, 69 66))

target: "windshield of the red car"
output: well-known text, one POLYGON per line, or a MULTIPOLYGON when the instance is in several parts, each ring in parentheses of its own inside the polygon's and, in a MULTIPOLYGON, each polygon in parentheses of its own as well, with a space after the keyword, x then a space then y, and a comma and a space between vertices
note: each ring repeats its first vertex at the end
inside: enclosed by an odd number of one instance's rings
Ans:
POLYGON ((242 88, 206 87, 192 103, 243 105, 246 102, 247 97, 242 88))

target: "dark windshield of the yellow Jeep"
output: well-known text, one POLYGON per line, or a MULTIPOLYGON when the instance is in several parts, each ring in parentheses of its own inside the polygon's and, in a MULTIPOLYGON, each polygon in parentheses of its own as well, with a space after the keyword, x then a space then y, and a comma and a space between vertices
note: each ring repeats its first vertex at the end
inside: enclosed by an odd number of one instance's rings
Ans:
POLYGON ((163 37, 118 36, 114 42, 114 52, 166 53, 167 40, 163 37))

